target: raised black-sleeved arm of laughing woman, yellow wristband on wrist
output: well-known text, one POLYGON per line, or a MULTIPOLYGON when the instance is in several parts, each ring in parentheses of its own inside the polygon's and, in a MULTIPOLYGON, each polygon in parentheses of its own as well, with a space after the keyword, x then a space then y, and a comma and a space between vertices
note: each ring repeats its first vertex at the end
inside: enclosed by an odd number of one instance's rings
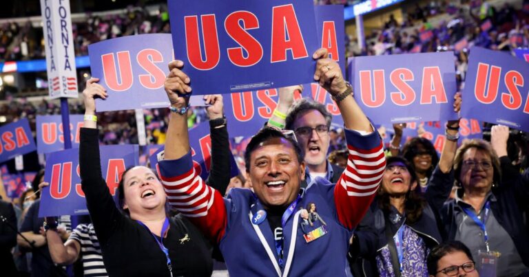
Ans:
POLYGON ((97 81, 98 78, 87 80, 86 89, 83 91, 85 122, 81 128, 79 143, 79 173, 86 206, 97 230, 98 239, 101 243, 106 243, 116 224, 123 220, 123 215, 116 208, 101 173, 95 98, 105 99, 107 93, 97 81))

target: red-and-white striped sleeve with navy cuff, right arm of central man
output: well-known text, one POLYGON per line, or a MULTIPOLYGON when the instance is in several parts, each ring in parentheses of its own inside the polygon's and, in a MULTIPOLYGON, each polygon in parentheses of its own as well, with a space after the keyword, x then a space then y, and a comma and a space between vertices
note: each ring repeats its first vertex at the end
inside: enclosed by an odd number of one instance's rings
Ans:
POLYGON ((376 195, 386 168, 386 157, 377 131, 369 135, 344 131, 349 158, 334 188, 334 200, 338 220, 344 227, 353 230, 376 195))

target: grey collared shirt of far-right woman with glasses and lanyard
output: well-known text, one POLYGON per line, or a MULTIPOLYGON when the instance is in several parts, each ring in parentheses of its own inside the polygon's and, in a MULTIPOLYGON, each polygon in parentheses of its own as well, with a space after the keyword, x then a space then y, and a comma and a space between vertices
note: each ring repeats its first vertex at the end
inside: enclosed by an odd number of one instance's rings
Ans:
MULTIPOLYGON (((484 234, 481 228, 461 209, 461 207, 468 208, 468 210, 477 212, 472 206, 461 199, 463 190, 459 188, 455 197, 455 221, 457 223, 457 232, 455 240, 463 242, 472 252, 475 261, 478 261, 478 250, 486 251, 484 234)), ((492 192, 486 197, 486 201, 496 202, 497 199, 492 192)), ((478 219, 484 219, 485 209, 481 207, 478 219)), ((501 253, 498 258, 497 276, 518 276, 523 273, 527 267, 523 265, 521 256, 516 250, 515 243, 512 241, 510 235, 506 230, 499 225, 492 210, 490 210, 486 218, 485 227, 488 233, 488 243, 491 251, 501 253)))

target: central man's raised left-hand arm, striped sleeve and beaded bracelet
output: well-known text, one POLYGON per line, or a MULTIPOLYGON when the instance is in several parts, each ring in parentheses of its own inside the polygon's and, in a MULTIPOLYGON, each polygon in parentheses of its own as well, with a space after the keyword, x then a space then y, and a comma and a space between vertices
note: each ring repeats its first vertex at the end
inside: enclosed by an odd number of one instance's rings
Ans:
POLYGON ((207 186, 197 174, 191 160, 187 133, 187 100, 191 80, 180 69, 181 60, 169 63, 165 91, 172 112, 169 115, 165 152, 158 155, 158 173, 169 204, 193 221, 210 239, 219 242, 224 236, 227 214, 222 195, 207 186))

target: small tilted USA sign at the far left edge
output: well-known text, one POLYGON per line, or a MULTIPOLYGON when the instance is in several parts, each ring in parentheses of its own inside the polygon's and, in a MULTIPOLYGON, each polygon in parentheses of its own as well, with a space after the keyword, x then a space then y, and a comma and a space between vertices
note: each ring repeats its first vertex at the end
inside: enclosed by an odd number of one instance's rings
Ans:
POLYGON ((23 118, 0 127, 0 163, 37 150, 30 123, 23 118))

